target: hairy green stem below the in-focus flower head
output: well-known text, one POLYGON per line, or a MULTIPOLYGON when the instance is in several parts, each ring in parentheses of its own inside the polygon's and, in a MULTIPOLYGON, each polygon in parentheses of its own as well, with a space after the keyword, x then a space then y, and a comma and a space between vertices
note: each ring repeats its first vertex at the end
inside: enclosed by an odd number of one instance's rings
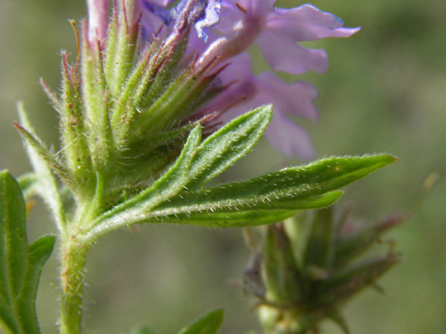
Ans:
POLYGON ((89 246, 78 241, 78 232, 66 235, 62 244, 61 334, 80 334, 84 265, 89 246))

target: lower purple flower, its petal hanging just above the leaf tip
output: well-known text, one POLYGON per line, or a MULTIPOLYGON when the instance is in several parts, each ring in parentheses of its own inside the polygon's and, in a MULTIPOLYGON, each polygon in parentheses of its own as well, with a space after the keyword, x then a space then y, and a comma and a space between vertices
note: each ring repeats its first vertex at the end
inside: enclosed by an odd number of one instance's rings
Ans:
POLYGON ((206 105, 201 113, 205 115, 224 111, 220 118, 230 120, 249 109, 273 104, 274 114, 266 129, 270 143, 289 157, 314 159, 314 148, 307 132, 287 116, 308 118, 316 122, 318 113, 313 103, 318 95, 316 88, 305 81, 286 84, 271 72, 263 72, 255 77, 246 53, 231 61, 231 65, 219 76, 226 89, 206 105))

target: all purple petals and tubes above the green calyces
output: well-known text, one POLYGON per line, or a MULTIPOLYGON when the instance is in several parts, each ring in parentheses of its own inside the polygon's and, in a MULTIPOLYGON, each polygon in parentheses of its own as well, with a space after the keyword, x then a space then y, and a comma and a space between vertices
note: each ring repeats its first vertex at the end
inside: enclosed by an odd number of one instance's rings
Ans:
MULTIPOLYGON (((90 45, 95 47, 99 41, 105 47, 109 1, 88 1, 90 45)), ((206 92, 195 94, 196 101, 190 103, 194 109, 183 118, 216 114, 220 120, 228 120, 272 103, 275 113, 267 130, 272 145, 289 156, 312 159, 314 150, 307 132, 288 116, 316 121, 316 88, 302 81, 286 84, 272 72, 255 77, 246 51, 254 43, 259 45, 275 71, 324 72, 328 67, 325 51, 307 49, 298 42, 348 37, 359 28, 343 28, 340 19, 311 5, 279 9, 274 7, 275 0, 183 0, 171 8, 173 2, 125 0, 121 8, 130 27, 140 24, 139 38, 143 42, 153 45, 163 40, 162 47, 169 49, 167 52, 181 44, 184 50, 180 55, 176 52, 180 56, 177 65, 187 67, 193 76, 212 78, 206 80, 206 92), (197 33, 190 33, 192 25, 197 33), (184 40, 187 45, 183 45, 184 40), (207 96, 201 99, 203 95, 207 96)), ((115 7, 120 8, 119 3, 115 7)))

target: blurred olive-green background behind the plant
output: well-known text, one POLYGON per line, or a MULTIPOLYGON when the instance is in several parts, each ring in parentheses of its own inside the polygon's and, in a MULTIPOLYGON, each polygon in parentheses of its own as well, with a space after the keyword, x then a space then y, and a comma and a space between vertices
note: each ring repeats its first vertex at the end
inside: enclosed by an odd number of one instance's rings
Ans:
MULTIPOLYGON (((314 0, 314 6, 362 31, 312 47, 328 51, 330 69, 307 73, 320 92, 318 125, 310 132, 318 157, 390 152, 399 162, 346 189, 341 205, 354 203, 355 216, 373 221, 401 212, 410 216, 389 235, 404 262, 381 280, 385 295, 369 289, 346 308, 354 334, 446 333, 446 1, 314 0), (426 177, 440 179, 422 200, 426 177)), ((291 8, 300 1, 277 1, 291 8)), ((38 133, 58 147, 56 112, 38 78, 59 86, 59 50, 75 60, 68 18, 86 17, 83 0, 0 1, 0 168, 20 176, 30 170, 12 122, 23 100, 38 133)), ((286 50, 284 50, 285 52, 286 50)), ((255 69, 265 63, 253 50, 255 69)), ((284 77, 292 81, 296 78, 284 77)), ((239 180, 287 161, 261 142, 221 178, 239 180)), ((29 219, 29 239, 54 231, 43 205, 29 219)), ((128 333, 151 324, 156 333, 175 333, 215 307, 226 308, 222 334, 257 328, 238 286, 249 258, 240 230, 141 226, 101 239, 88 259, 85 333, 128 333)), ((45 267, 38 294, 43 333, 57 332, 58 264, 45 267)), ((341 333, 330 323, 324 333, 341 333)))

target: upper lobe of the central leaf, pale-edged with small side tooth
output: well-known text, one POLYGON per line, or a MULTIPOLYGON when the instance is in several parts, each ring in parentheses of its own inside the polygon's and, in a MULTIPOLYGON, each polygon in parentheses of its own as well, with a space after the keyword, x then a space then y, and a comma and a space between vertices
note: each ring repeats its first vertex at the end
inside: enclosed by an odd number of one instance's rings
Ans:
MULTIPOLYGON (((187 138, 180 157, 167 173, 151 188, 110 210, 93 225, 106 221, 101 229, 109 230, 140 222, 141 218, 137 218, 137 221, 134 218, 162 202, 168 202, 179 193, 202 187, 252 149, 268 126, 271 113, 271 106, 262 106, 245 113, 215 132, 201 145, 201 128, 195 127, 187 138)), ((151 217, 144 219, 147 218, 151 217)))

